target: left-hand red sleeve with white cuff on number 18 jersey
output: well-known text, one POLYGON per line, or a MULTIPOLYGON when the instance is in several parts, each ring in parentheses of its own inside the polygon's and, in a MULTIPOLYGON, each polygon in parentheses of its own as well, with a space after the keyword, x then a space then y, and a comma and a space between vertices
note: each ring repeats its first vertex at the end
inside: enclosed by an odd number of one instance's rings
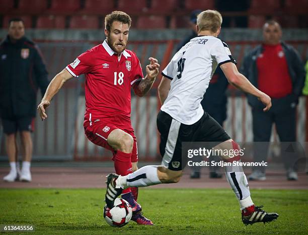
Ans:
POLYGON ((90 72, 92 67, 91 51, 88 50, 85 53, 79 55, 74 62, 70 63, 65 69, 74 77, 79 77, 81 74, 90 72))

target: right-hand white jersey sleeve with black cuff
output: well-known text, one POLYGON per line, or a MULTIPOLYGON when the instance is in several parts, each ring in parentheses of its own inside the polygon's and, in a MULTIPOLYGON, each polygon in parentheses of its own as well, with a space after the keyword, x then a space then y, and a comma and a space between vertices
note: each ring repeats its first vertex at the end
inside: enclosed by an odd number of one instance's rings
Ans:
POLYGON ((229 46, 222 40, 219 40, 211 50, 212 56, 214 56, 218 66, 224 63, 232 62, 237 64, 237 61, 232 57, 229 46))

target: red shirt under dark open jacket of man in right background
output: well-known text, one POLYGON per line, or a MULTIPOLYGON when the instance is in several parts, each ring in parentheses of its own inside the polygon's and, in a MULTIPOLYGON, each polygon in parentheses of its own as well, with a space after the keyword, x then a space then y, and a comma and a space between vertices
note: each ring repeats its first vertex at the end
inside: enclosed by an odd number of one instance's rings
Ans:
POLYGON ((272 98, 292 93, 292 80, 281 44, 263 45, 257 59, 258 88, 272 98))

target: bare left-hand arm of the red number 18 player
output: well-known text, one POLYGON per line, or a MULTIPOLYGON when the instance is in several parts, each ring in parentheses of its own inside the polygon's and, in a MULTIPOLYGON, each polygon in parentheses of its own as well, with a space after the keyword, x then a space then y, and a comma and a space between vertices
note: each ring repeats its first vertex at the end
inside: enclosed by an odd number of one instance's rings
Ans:
POLYGON ((61 89, 63 84, 71 78, 73 78, 73 76, 64 69, 51 80, 41 103, 37 106, 42 120, 47 119, 46 108, 50 105, 52 97, 61 89))

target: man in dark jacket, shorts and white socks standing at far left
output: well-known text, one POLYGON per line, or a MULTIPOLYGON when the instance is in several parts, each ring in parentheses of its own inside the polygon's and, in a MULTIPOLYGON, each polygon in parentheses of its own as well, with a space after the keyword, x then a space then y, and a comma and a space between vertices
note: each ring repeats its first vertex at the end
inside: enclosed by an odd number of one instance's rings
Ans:
POLYGON ((24 22, 11 19, 9 32, 0 45, 0 115, 6 136, 6 149, 11 170, 4 181, 31 181, 33 120, 36 115, 36 95, 44 95, 48 86, 47 71, 40 51, 25 36, 24 22), (16 136, 20 132, 23 166, 17 167, 16 136))

